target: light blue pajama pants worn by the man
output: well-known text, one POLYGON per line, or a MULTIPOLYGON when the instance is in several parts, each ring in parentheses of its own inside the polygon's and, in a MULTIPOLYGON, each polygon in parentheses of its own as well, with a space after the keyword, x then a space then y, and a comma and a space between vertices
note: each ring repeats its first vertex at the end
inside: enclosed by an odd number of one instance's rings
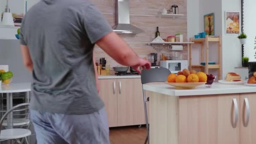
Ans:
POLYGON ((88 115, 65 115, 30 109, 37 144, 110 144, 105 108, 88 115))

